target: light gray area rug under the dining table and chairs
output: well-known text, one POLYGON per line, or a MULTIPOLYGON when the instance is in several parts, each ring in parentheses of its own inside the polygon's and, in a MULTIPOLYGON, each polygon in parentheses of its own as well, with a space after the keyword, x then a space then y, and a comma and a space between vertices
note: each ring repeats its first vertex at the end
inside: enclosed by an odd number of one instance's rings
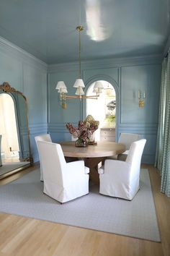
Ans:
POLYGON ((44 195, 40 169, 0 186, 0 211, 40 220, 105 231, 160 242, 148 170, 140 171, 140 190, 132 201, 99 194, 90 185, 89 195, 61 205, 44 195))

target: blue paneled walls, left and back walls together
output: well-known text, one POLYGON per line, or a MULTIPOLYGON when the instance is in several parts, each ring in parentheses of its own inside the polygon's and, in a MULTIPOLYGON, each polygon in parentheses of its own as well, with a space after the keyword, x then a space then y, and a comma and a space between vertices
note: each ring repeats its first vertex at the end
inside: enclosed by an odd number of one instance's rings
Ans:
MULTIPOLYGON (((12 43, 0 38, 0 83, 7 81, 24 93, 28 100, 31 149, 38 161, 35 135, 50 132, 53 141, 70 140, 66 122, 77 124, 84 119, 85 101, 70 100, 68 108, 60 106, 55 85, 64 80, 68 92, 75 93, 78 76, 76 63, 47 66, 12 43)), ((158 101, 161 81, 161 57, 102 59, 82 61, 86 90, 91 82, 107 80, 117 93, 116 138, 120 132, 135 132, 146 137, 143 162, 153 163, 158 127, 158 101), (138 107, 138 90, 146 92, 145 107, 138 107)))

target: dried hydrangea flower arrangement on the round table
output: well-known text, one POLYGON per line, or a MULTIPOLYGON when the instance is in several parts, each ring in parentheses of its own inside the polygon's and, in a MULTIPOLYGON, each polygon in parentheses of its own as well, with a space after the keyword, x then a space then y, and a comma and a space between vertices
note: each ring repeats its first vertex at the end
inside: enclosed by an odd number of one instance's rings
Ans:
POLYGON ((74 138, 78 138, 76 145, 83 144, 85 146, 86 143, 90 142, 91 135, 99 128, 99 121, 95 121, 93 116, 89 115, 84 121, 79 121, 78 127, 73 127, 73 124, 67 123, 66 128, 74 138))

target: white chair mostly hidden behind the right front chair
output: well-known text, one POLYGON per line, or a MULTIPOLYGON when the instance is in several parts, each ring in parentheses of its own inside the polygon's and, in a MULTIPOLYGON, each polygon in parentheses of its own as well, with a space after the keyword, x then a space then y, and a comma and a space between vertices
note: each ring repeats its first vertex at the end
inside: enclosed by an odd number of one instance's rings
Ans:
POLYGON ((121 133, 119 143, 124 144, 126 147, 126 150, 125 152, 117 155, 117 159, 121 161, 125 161, 128 156, 130 146, 132 145, 133 142, 140 140, 140 138, 141 136, 136 133, 121 133))

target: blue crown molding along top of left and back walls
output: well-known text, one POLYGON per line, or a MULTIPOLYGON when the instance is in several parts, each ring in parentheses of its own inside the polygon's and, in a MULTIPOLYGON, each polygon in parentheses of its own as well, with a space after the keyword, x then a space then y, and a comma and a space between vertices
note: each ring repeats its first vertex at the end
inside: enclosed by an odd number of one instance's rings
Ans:
MULTIPOLYGON (((170 40, 170 37, 169 37, 170 40)), ((169 42, 168 40, 168 42, 169 42)), ((167 44, 168 44, 167 42, 167 44)), ((79 69, 79 62, 67 62, 60 64, 47 64, 37 57, 29 54, 27 51, 24 51, 19 46, 16 46, 14 43, 9 42, 5 38, 0 36, 0 51, 6 50, 7 54, 12 54, 13 56, 24 60, 26 63, 37 64, 39 67, 45 69, 48 73, 55 72, 63 72, 66 70, 67 72, 77 71, 79 69)), ((145 65, 145 64, 161 64, 163 59, 162 54, 157 55, 147 55, 147 56, 132 56, 125 58, 107 58, 107 59, 93 59, 93 60, 84 60, 81 61, 82 69, 104 69, 104 68, 117 68, 117 67, 126 67, 126 66, 134 66, 134 65, 145 65)))

